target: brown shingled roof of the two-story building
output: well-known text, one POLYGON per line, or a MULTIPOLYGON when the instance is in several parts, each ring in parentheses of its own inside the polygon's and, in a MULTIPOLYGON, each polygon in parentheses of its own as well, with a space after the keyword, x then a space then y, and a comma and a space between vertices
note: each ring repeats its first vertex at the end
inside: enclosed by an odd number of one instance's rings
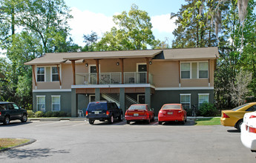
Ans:
POLYGON ((216 59, 219 57, 217 47, 163 49, 163 50, 127 50, 127 51, 102 51, 79 53, 46 53, 45 56, 25 63, 35 64, 60 64, 68 60, 82 59, 124 59, 124 58, 154 58, 165 60, 186 59, 216 59), (158 57, 160 56, 160 57, 158 57))

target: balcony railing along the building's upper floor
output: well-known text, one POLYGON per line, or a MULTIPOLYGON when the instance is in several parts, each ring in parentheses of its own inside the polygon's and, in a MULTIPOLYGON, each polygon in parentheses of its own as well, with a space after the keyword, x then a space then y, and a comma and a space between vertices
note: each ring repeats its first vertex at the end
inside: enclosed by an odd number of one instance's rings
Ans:
MULTIPOLYGON (((148 80, 152 84, 149 73, 148 80)), ((146 84, 147 72, 125 72, 124 84, 146 84)), ((76 73, 76 85, 97 84, 96 73, 76 73)), ((122 84, 122 73, 99 73, 99 84, 122 84)))

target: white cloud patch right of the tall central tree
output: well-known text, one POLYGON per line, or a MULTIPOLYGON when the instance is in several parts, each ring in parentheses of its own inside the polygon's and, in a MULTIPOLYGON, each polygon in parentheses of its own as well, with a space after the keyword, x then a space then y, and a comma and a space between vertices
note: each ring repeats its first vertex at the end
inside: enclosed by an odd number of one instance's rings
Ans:
POLYGON ((176 28, 175 21, 177 18, 170 19, 170 14, 161 15, 161 16, 152 16, 152 30, 157 30, 160 33, 172 33, 176 28))

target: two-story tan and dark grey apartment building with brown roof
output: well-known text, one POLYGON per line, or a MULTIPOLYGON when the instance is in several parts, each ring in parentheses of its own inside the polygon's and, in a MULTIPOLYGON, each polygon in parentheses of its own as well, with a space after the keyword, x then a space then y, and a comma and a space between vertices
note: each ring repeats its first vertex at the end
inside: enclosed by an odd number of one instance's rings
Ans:
POLYGON ((123 111, 146 103, 158 113, 167 103, 214 102, 217 47, 47 53, 33 67, 33 111, 77 116, 89 102, 116 102, 123 111))

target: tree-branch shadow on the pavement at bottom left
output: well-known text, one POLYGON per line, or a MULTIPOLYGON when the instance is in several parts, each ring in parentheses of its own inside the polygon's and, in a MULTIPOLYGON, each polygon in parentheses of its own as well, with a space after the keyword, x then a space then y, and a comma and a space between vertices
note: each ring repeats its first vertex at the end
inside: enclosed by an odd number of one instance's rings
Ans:
POLYGON ((39 148, 32 150, 13 149, 0 153, 0 156, 5 155, 10 159, 35 159, 53 156, 55 153, 68 154, 70 152, 68 150, 53 150, 52 148, 39 148))

